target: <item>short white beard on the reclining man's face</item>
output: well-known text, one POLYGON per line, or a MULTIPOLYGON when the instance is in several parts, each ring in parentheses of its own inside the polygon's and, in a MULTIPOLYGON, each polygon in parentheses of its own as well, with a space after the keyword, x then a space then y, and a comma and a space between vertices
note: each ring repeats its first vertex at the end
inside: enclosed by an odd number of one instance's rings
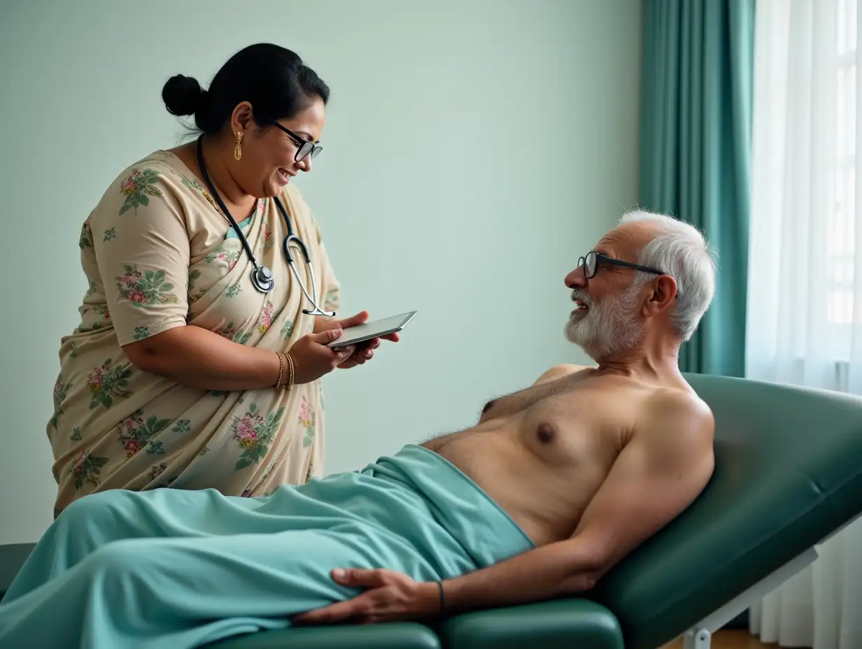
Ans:
POLYGON ((637 345, 644 327, 634 319, 634 308, 640 286, 634 285, 622 295, 596 302, 578 289, 572 291, 587 305, 586 315, 565 324, 565 339, 580 346, 596 362, 637 345))

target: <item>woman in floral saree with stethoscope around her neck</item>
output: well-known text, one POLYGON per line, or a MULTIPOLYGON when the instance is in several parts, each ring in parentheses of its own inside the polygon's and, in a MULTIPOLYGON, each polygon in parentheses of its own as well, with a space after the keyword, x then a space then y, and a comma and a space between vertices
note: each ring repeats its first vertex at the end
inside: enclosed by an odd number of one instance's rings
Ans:
POLYGON ((84 222, 89 289, 47 426, 55 515, 100 490, 262 496, 320 470, 320 378, 379 345, 327 346, 368 315, 333 317, 339 284, 291 184, 322 150, 328 96, 269 44, 234 54, 208 90, 165 84, 200 135, 130 165, 84 222))

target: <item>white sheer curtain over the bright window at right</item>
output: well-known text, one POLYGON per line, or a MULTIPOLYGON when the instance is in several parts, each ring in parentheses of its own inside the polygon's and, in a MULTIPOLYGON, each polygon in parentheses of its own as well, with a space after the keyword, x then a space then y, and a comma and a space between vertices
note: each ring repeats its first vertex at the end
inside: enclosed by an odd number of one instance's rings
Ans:
MULTIPOLYGON (((757 3, 746 375, 862 394, 859 4, 757 3)), ((820 550, 751 610, 761 640, 862 649, 862 521, 820 550)))

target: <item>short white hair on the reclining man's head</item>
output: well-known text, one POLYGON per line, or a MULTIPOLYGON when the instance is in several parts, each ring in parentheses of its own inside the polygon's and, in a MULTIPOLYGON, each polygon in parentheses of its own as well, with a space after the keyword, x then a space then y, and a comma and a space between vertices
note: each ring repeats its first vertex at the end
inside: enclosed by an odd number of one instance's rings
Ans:
MULTIPOLYGON (((703 233, 672 216, 636 209, 620 223, 650 222, 658 233, 640 251, 638 264, 663 271, 677 282, 677 303, 671 320, 683 340, 695 333, 715 295, 716 253, 703 233)), ((638 284, 653 276, 639 272, 638 284)))

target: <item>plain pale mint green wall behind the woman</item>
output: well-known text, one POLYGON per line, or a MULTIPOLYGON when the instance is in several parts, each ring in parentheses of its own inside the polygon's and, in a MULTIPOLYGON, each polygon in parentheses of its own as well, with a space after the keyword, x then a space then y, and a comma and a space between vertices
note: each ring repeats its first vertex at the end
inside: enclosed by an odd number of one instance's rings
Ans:
POLYGON ((81 222, 182 136, 165 79, 205 81, 254 41, 296 49, 333 90, 300 187, 343 315, 420 311, 403 343, 326 379, 327 471, 584 360, 563 338, 563 277, 636 202, 638 0, 2 3, 0 543, 51 521, 45 425, 86 290, 81 222))

